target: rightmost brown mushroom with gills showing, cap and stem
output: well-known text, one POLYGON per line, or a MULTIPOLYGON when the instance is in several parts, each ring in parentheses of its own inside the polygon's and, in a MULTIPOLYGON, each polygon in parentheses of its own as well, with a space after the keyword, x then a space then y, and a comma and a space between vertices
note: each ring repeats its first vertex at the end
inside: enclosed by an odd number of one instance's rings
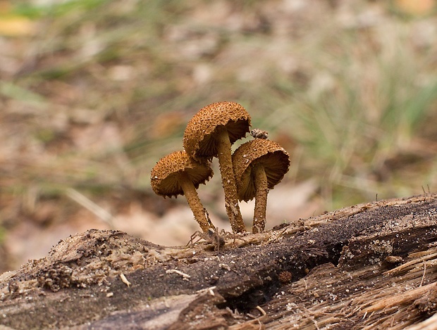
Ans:
POLYGON ((266 227, 267 193, 281 182, 290 167, 287 151, 276 142, 254 139, 242 144, 232 156, 238 199, 255 198, 252 232, 266 227))

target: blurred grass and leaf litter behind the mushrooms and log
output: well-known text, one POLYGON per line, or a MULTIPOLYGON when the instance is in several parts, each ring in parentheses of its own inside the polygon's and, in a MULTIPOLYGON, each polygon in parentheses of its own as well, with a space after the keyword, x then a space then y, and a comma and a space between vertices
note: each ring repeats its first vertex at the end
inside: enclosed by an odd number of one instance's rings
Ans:
MULTIPOLYGON (((216 101, 290 153, 267 228, 436 191, 436 7, 0 1, 0 272, 90 228, 186 244, 192 212, 154 195, 150 171, 216 101)), ((217 167, 199 196, 230 230, 217 167)), ((250 228, 253 203, 241 209, 250 228)))

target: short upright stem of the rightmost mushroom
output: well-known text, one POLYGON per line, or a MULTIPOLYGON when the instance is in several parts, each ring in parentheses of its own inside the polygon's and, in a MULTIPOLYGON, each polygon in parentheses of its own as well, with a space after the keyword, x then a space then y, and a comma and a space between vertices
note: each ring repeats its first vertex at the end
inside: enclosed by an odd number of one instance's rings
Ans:
POLYGON ((252 232, 257 234, 262 233, 266 227, 267 193, 269 193, 269 188, 267 186, 266 172, 262 164, 255 164, 252 168, 252 173, 254 175, 256 191, 252 232))

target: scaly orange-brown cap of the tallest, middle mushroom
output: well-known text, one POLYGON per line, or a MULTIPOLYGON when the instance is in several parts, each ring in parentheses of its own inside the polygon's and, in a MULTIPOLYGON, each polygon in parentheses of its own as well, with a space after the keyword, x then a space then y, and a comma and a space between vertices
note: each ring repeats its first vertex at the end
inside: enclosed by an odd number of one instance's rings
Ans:
POLYGON ((183 136, 183 146, 193 158, 217 156, 214 133, 226 127, 230 144, 250 132, 250 115, 245 108, 235 102, 211 103, 200 109, 187 124, 183 136))

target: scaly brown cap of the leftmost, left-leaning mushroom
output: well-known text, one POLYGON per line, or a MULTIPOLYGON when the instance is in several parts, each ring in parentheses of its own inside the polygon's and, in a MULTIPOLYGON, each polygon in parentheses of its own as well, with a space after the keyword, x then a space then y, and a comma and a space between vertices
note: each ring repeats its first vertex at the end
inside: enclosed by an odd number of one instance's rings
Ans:
POLYGON ((183 172, 196 189, 199 188, 199 184, 205 184, 214 175, 209 163, 198 163, 185 151, 175 151, 161 158, 153 167, 150 174, 153 191, 164 198, 183 195, 184 191, 179 183, 180 174, 183 172))

